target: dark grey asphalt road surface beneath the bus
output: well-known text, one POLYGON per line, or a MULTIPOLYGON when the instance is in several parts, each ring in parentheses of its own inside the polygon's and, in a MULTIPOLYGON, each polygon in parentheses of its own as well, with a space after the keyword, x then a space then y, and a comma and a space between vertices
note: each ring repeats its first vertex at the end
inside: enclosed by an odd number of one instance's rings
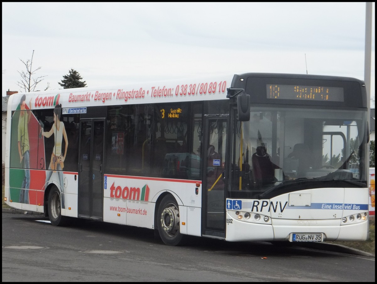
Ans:
POLYGON ((374 256, 314 245, 190 238, 170 247, 144 228, 79 219, 54 227, 3 209, 2 281, 375 281, 374 256))

